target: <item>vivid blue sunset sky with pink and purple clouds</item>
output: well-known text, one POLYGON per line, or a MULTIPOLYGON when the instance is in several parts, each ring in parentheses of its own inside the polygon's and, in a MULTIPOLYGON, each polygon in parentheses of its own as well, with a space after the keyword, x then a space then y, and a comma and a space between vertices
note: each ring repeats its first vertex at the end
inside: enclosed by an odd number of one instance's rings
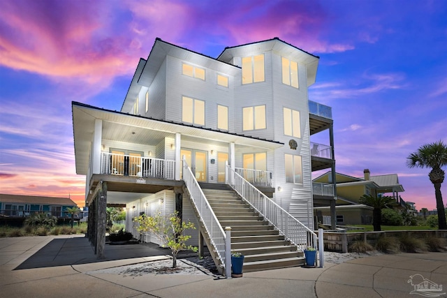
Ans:
MULTIPOLYGON (((82 206, 71 101, 119 110, 156 37, 211 57, 273 37, 318 55, 309 100, 332 107, 337 172, 397 173, 404 200, 436 207, 429 170, 409 169, 406 156, 447 142, 440 0, 2 1, 0 193, 82 206)), ((312 140, 328 144, 320 134, 312 140)))

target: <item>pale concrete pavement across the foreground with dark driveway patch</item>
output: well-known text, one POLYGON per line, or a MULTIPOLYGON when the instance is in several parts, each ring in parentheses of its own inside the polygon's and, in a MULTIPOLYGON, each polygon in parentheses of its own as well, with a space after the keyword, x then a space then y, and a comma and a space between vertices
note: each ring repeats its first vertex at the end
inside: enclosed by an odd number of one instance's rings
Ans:
POLYGON ((0 297, 424 297, 420 290, 411 294, 423 278, 445 289, 430 297, 447 297, 447 253, 376 255, 232 279, 98 271, 166 258, 163 250, 140 244, 106 246, 105 255, 98 262, 87 239, 74 235, 0 238, 0 297))

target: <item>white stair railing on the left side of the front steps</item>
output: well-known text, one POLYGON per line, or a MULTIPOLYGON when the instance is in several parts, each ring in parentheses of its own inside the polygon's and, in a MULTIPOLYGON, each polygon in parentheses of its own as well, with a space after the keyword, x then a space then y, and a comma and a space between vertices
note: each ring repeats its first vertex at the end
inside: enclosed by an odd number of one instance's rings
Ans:
POLYGON ((203 194, 202 188, 200 188, 198 181, 191 171, 191 168, 188 166, 188 163, 186 163, 186 160, 183 161, 183 180, 186 188, 188 188, 191 201, 198 211, 200 221, 202 221, 208 237, 210 237, 211 244, 214 246, 214 250, 216 251, 218 258, 221 260, 221 265, 225 268, 225 231, 219 223, 216 214, 212 211, 210 203, 203 194))

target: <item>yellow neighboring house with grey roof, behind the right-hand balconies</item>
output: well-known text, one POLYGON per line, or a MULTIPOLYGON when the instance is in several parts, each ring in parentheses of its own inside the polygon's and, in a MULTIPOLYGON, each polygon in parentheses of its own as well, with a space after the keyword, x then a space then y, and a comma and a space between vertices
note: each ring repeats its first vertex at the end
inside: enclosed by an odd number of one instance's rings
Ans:
MULTIPOLYGON (((404 208, 405 202, 399 193, 404 191, 397 174, 372 176, 368 169, 363 171, 364 177, 357 178, 345 174, 335 174, 337 181, 337 225, 367 225, 372 223, 372 207, 360 204, 362 195, 388 195, 395 198, 398 206, 404 208)), ((328 183, 332 173, 327 172, 314 179, 314 182, 328 183)), ((318 222, 328 223, 330 216, 327 207, 315 207, 318 222)))

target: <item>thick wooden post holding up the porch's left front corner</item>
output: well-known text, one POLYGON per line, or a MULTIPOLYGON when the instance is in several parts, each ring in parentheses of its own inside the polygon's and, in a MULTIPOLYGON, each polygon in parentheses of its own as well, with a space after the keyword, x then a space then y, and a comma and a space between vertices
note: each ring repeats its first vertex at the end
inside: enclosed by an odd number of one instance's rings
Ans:
POLYGON ((107 221, 106 209, 107 209, 107 182, 101 181, 101 190, 98 193, 96 218, 96 258, 104 259, 104 246, 105 246, 105 225, 107 221))

